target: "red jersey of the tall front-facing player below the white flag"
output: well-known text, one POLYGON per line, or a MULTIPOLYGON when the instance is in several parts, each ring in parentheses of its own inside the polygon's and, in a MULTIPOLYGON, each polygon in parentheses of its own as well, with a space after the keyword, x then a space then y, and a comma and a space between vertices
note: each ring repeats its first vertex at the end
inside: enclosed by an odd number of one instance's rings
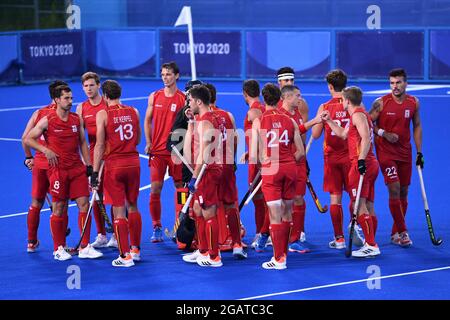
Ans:
POLYGON ((175 117, 185 102, 184 93, 177 89, 173 97, 167 97, 164 89, 153 94, 153 116, 152 116, 152 149, 151 154, 167 155, 167 139, 175 121, 175 117))

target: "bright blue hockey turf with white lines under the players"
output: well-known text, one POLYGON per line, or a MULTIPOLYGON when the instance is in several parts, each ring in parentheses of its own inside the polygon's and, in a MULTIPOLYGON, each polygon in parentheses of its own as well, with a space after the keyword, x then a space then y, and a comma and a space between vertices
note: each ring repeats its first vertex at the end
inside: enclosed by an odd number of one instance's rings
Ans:
MULTIPOLYGON (((159 82, 128 80, 121 81, 123 97, 145 97, 160 87, 159 82)), ((313 116, 320 103, 328 99, 327 89, 321 83, 298 83, 310 105, 313 116)), ((359 84, 364 91, 387 89, 386 84, 359 84)), ((238 126, 242 127, 247 110, 240 95, 241 83, 219 82, 218 105, 233 112, 238 126)), ((180 87, 184 87, 181 83, 180 87)), ((84 95, 79 83, 73 83, 74 100, 81 101, 84 95)), ((414 246, 402 249, 389 244, 392 218, 387 205, 387 191, 381 174, 376 184, 375 209, 379 217, 377 241, 382 255, 375 259, 346 259, 343 252, 327 248, 332 238, 329 214, 319 214, 306 195, 307 240, 312 252, 309 254, 290 254, 288 269, 282 272, 266 271, 260 265, 268 260, 271 251, 256 254, 249 251, 245 261, 235 261, 230 253, 223 254, 224 267, 204 270, 196 265, 181 261, 180 252, 175 245, 166 240, 152 244, 151 223, 148 212, 149 190, 141 192, 139 207, 143 217, 142 256, 143 261, 135 268, 117 270, 111 267, 115 251, 105 249, 100 260, 80 260, 74 258, 67 262, 52 259, 52 241, 49 231, 49 212, 41 215, 39 239, 41 247, 35 254, 27 254, 26 216, 1 218, 13 213, 27 211, 30 201, 31 176, 23 166, 23 152, 20 142, 0 140, 0 299, 240 299, 259 295, 313 288, 329 284, 365 279, 367 267, 380 267, 380 276, 401 274, 419 270, 446 267, 449 265, 449 230, 447 210, 447 180, 450 136, 447 124, 446 107, 450 95, 449 88, 430 89, 412 92, 421 101, 421 117, 424 128, 423 153, 425 156, 424 178, 430 203, 431 215, 437 236, 444 238, 440 247, 433 247, 426 229, 423 202, 418 184, 417 172, 413 171, 409 195, 407 224, 414 246), (69 290, 66 281, 69 277, 67 267, 78 265, 81 268, 81 290, 69 290)), ((364 103, 370 106, 376 95, 366 95, 364 103)), ((26 121, 33 110, 1 112, 6 108, 44 105, 48 102, 46 85, 0 87, 1 138, 19 139, 26 121)), ((146 100, 126 101, 141 112, 143 118, 146 100)), ((74 108, 75 109, 75 108, 74 108)), ((139 146, 143 153, 144 142, 139 146)), ((322 204, 327 204, 328 196, 321 190, 322 153, 321 141, 313 143, 308 155, 311 167, 311 180, 322 204)), ((149 184, 149 169, 145 159, 141 159, 141 186, 149 184)), ((238 189, 240 198, 246 191, 246 166, 238 170, 238 189)), ((163 225, 173 225, 173 184, 166 181, 162 193, 163 225)), ((348 198, 344 197, 344 208, 348 198)), ((254 235, 252 205, 243 209, 241 218, 247 228, 247 243, 254 235)), ((76 232, 77 211, 71 208, 70 226, 72 234, 69 243, 78 240, 76 232)), ((348 212, 345 210, 345 218, 348 212)), ((95 233, 92 227, 92 236, 95 233)), ((269 248, 270 249, 270 248, 269 248)), ((269 299, 449 299, 450 271, 436 271, 395 277, 381 280, 381 289, 369 290, 365 282, 340 285, 322 289, 308 289, 304 292, 271 296, 269 299)))

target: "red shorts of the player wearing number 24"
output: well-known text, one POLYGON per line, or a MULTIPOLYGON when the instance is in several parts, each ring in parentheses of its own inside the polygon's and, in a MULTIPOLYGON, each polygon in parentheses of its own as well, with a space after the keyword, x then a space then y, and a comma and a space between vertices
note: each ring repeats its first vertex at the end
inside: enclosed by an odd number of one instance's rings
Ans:
POLYGON ((296 164, 281 164, 278 172, 262 176, 262 192, 266 202, 275 200, 292 200, 296 192, 297 169, 296 164))

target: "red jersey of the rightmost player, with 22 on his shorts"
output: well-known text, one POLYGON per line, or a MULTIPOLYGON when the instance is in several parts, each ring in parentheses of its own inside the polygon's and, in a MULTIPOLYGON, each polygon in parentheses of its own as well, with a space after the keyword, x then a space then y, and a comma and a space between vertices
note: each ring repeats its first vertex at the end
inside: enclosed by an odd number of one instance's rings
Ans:
POLYGON ((396 143, 390 143, 383 137, 375 137, 377 154, 393 160, 411 161, 410 124, 417 110, 417 101, 413 96, 406 95, 402 103, 394 100, 392 94, 382 97, 383 110, 377 124, 378 127, 398 135, 396 143))

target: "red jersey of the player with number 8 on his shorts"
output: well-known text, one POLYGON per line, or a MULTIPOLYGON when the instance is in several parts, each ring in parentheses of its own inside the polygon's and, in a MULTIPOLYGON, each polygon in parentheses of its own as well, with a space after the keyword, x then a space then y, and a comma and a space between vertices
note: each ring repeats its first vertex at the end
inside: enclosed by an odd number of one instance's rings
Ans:
POLYGON ((47 115, 48 128, 45 131, 47 147, 58 155, 58 167, 70 169, 82 166, 80 157, 80 117, 69 113, 67 121, 56 112, 47 115))

